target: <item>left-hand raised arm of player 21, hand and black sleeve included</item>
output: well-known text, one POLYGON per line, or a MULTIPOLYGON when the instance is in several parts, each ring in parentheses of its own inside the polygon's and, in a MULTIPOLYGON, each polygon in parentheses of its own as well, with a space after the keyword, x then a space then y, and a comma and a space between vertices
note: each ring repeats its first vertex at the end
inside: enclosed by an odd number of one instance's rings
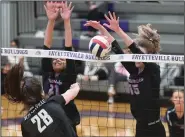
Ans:
MULTIPOLYGON (((53 41, 53 29, 55 25, 55 20, 59 14, 59 8, 57 8, 55 2, 47 2, 44 5, 46 15, 48 17, 48 24, 44 36, 44 50, 50 50, 52 41, 53 41)), ((43 72, 52 72, 52 59, 42 58, 42 71, 43 72)))

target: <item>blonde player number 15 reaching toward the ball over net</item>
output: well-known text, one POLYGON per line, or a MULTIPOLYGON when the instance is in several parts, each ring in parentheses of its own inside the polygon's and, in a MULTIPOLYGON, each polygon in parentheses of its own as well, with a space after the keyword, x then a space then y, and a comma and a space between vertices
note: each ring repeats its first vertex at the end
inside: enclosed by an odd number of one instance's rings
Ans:
MULTIPOLYGON (((132 40, 120 27, 119 17, 109 12, 105 18, 109 22, 103 24, 115 31, 124 41, 133 54, 155 54, 160 49, 160 37, 157 30, 150 25, 142 25, 138 28, 136 40, 132 40)), ((116 54, 124 54, 118 42, 110 33, 96 21, 87 21, 85 26, 98 29, 112 44, 112 51, 116 54)), ((165 137, 165 129, 160 120, 160 106, 158 104, 160 88, 160 67, 156 63, 122 62, 130 73, 130 104, 131 112, 136 119, 136 137, 165 137)))

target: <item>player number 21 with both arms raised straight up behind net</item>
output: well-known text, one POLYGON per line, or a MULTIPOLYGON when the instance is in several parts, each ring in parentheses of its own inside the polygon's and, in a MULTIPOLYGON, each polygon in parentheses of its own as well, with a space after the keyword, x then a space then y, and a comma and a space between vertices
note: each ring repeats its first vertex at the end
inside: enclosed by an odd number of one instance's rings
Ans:
MULTIPOLYGON (((48 2, 47 5, 48 7, 45 6, 45 9, 49 21, 45 31, 43 49, 51 49, 55 20, 60 13, 60 16, 64 21, 65 50, 72 51, 72 31, 70 23, 70 16, 73 10, 72 3, 68 5, 67 1, 65 3, 57 2, 54 4, 50 4, 48 2)), ((43 58, 42 71, 43 88, 44 92, 48 96, 63 94, 67 89, 70 88, 71 84, 76 82, 77 74, 74 60, 43 58)), ((76 131, 76 125, 80 123, 80 115, 73 100, 64 107, 64 111, 66 112, 66 115, 69 117, 70 122, 76 131)))

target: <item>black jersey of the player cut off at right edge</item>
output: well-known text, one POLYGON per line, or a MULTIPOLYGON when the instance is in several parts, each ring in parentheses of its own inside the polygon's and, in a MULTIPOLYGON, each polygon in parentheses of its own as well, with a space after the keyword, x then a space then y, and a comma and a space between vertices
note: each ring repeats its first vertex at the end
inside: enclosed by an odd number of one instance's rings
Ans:
POLYGON ((170 108, 166 112, 170 137, 184 137, 184 115, 178 118, 175 108, 170 108))

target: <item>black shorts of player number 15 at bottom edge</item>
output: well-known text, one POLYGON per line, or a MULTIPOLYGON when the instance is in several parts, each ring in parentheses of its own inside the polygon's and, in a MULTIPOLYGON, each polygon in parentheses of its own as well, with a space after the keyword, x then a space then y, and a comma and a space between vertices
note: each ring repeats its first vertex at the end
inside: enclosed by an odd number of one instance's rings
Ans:
POLYGON ((166 132, 161 121, 153 125, 137 122, 135 137, 166 137, 166 132))

